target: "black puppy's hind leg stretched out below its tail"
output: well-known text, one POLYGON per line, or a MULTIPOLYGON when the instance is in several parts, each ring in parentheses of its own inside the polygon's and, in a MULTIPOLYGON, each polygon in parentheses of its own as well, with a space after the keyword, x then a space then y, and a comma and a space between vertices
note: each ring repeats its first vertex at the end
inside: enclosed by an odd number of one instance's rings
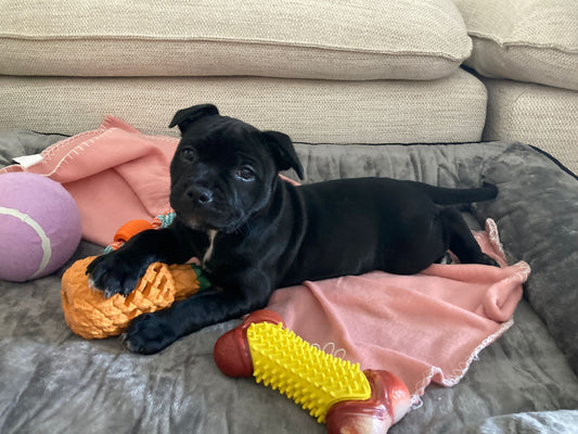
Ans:
POLYGON ((444 231, 449 240, 450 251, 458 256, 462 264, 484 264, 498 266, 479 247, 464 218, 457 208, 444 208, 439 214, 444 231))

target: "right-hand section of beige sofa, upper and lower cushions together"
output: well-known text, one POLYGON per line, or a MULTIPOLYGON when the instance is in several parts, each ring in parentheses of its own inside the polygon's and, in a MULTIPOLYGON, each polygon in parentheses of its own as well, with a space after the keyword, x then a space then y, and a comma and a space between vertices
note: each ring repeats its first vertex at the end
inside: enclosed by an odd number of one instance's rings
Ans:
POLYGON ((473 41, 464 64, 488 90, 483 140, 531 143, 576 173, 576 5, 563 0, 454 3, 473 41))

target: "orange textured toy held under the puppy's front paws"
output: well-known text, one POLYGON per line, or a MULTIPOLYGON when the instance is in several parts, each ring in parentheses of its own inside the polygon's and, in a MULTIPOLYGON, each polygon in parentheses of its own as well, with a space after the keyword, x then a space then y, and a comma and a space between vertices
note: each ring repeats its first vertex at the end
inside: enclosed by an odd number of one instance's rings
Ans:
MULTIPOLYGON (((120 228, 112 248, 118 248, 134 233, 154 227, 143 221, 131 221, 120 228)), ((62 278, 61 289, 66 323, 88 340, 121 334, 139 315, 165 309, 210 285, 195 266, 155 263, 128 296, 116 294, 105 298, 102 291, 89 285, 86 270, 93 259, 94 256, 74 263, 62 278)))

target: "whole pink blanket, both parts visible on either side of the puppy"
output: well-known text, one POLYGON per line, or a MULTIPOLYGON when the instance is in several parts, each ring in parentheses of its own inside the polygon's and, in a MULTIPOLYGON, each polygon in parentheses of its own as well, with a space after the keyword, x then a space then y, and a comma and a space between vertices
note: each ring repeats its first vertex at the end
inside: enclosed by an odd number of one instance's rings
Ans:
MULTIPOLYGON (((42 152, 27 170, 61 183, 76 200, 84 237, 107 245, 132 219, 169 209, 169 164, 178 139, 145 136, 113 116, 42 152)), ((363 369, 401 376, 414 399, 435 381, 455 384, 485 346, 512 326, 529 275, 506 266, 493 221, 477 235, 502 268, 433 265, 416 276, 371 272, 279 290, 270 308, 309 342, 363 369)))

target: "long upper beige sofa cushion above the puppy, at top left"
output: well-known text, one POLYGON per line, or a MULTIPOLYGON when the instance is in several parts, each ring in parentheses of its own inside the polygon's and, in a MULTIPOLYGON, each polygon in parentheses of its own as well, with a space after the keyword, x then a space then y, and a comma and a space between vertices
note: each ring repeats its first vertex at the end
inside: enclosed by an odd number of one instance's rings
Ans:
POLYGON ((471 40, 451 0, 21 0, 0 74, 432 79, 471 40))

